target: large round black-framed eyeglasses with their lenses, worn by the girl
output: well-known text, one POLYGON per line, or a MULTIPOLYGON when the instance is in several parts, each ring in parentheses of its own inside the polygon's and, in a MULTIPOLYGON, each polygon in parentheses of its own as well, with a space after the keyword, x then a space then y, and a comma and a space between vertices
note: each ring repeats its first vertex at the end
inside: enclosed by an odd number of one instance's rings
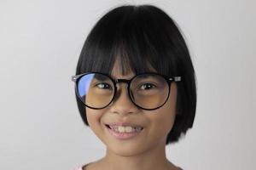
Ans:
POLYGON ((127 83, 127 91, 134 105, 143 110, 156 110, 166 104, 171 82, 181 77, 165 77, 158 73, 143 73, 127 79, 113 79, 99 72, 87 72, 72 77, 76 95, 91 109, 100 110, 113 102, 118 83, 127 83))

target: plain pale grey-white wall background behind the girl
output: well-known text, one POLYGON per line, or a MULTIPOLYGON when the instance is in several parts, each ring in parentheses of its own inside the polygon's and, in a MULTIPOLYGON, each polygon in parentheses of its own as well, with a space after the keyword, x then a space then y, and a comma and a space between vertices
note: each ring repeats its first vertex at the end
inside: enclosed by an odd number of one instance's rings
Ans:
POLYGON ((255 169, 253 0, 0 1, 0 169, 67 169, 104 146, 85 127, 71 76, 109 8, 151 3, 182 28, 198 84, 195 124, 168 158, 185 170, 255 169))

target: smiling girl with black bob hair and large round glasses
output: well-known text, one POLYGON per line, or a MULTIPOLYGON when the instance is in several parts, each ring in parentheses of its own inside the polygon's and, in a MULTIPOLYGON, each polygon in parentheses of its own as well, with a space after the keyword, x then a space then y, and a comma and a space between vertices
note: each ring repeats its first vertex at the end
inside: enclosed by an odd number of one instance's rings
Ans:
POLYGON ((192 127, 195 71, 175 22, 152 5, 113 8, 84 42, 76 76, 84 123, 106 155, 79 170, 177 170, 166 144, 192 127))

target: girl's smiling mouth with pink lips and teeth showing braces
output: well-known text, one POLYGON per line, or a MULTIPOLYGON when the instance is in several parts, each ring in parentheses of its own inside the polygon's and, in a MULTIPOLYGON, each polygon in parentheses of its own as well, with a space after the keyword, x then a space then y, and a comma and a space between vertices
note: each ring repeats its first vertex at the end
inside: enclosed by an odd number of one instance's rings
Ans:
POLYGON ((141 133, 144 127, 124 123, 105 124, 108 132, 116 139, 131 139, 141 133))

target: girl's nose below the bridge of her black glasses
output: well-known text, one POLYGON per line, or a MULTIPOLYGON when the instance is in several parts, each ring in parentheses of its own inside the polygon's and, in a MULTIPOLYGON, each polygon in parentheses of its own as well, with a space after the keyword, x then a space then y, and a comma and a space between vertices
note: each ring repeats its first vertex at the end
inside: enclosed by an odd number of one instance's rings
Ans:
POLYGON ((120 83, 113 99, 113 104, 110 107, 110 111, 118 113, 120 115, 127 115, 131 113, 137 113, 138 108, 134 105, 129 97, 127 84, 120 83))

